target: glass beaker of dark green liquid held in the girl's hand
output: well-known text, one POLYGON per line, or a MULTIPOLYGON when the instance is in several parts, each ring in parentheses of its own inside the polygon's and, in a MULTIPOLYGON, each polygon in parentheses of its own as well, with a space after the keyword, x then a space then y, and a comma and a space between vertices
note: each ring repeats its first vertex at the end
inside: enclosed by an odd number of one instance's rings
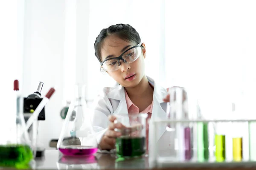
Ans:
POLYGON ((119 114, 115 124, 122 124, 122 128, 115 129, 122 133, 116 138, 116 154, 119 157, 136 157, 144 155, 146 151, 146 119, 147 113, 119 114))

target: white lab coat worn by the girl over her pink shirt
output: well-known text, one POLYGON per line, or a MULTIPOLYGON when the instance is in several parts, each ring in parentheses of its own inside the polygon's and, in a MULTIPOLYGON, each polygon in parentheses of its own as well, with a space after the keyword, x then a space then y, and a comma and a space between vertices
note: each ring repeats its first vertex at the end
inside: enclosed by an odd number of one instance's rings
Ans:
MULTIPOLYGON (((147 77, 148 81, 154 86, 153 108, 151 120, 149 123, 149 153, 154 147, 157 147, 163 156, 169 156, 174 149, 173 132, 166 131, 166 125, 158 126, 157 136, 154 135, 152 126, 153 119, 166 119, 166 102, 163 99, 168 92, 165 88, 160 87, 153 79, 147 77), (152 138, 157 140, 157 146, 153 146, 152 138)), ((96 130, 96 138, 99 143, 108 129, 109 115, 128 114, 125 100, 125 89, 121 85, 116 87, 105 87, 101 94, 94 101, 93 128, 96 130)), ((102 151, 102 150, 99 150, 102 151)))

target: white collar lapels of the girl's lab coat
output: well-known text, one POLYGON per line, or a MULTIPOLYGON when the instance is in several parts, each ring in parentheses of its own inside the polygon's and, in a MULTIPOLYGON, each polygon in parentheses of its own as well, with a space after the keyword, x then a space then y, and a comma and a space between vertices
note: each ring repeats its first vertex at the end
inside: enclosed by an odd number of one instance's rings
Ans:
MULTIPOLYGON (((148 81, 151 83, 151 85, 154 86, 154 96, 156 97, 157 101, 159 103, 163 103, 163 99, 167 95, 167 91, 165 88, 158 86, 157 83, 152 79, 151 77, 148 77, 148 81)), ((109 99, 115 99, 115 100, 122 100, 122 98, 125 97, 125 88, 122 87, 121 85, 118 85, 108 93, 108 98, 109 99)))

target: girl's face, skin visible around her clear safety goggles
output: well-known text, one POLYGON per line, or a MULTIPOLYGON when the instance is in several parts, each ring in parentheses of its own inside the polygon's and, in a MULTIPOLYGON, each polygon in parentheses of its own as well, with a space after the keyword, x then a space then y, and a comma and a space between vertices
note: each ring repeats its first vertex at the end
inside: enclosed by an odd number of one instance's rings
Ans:
MULTIPOLYGON (((101 56, 102 61, 108 58, 119 57, 125 50, 137 44, 127 42, 115 35, 109 35, 102 43, 101 56)), ((108 74, 125 88, 133 88, 138 85, 145 76, 145 44, 142 44, 142 52, 140 57, 134 62, 128 64, 120 60, 119 69, 109 71, 108 74)))

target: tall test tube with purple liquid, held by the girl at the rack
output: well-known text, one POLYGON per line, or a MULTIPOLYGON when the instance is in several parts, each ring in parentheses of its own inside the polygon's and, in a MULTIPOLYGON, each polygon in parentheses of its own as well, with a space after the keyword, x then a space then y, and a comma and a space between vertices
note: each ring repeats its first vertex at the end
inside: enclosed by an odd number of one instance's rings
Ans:
MULTIPOLYGON (((185 88, 172 87, 170 93, 170 117, 176 120, 188 120, 188 103, 185 88)), ((178 160, 190 160, 192 158, 192 129, 189 123, 177 122, 175 125, 176 149, 178 160)))

